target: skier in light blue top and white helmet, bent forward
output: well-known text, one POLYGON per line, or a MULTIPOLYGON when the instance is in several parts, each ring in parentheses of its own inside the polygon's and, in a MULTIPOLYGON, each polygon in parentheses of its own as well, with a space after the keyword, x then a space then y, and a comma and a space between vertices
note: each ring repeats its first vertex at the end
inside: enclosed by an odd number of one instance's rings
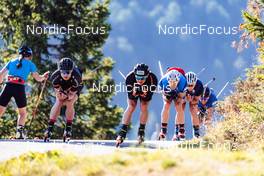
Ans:
POLYGON ((163 93, 163 109, 161 112, 161 132, 159 140, 165 140, 167 134, 167 125, 169 120, 170 105, 175 104, 177 114, 175 116, 175 135, 173 140, 184 139, 184 111, 183 111, 183 97, 186 87, 186 79, 184 75, 176 70, 167 72, 159 82, 159 87, 163 93), (181 131, 179 129, 182 129, 181 131))

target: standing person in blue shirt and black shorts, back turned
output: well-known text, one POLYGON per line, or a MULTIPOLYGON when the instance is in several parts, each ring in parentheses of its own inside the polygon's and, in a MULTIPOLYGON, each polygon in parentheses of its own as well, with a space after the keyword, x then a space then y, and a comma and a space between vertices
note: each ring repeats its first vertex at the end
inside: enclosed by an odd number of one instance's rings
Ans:
POLYGON ((36 65, 31 61, 33 52, 28 46, 22 46, 18 49, 19 58, 10 60, 4 68, 0 71, 0 84, 7 75, 7 80, 3 91, 0 94, 0 117, 4 114, 6 107, 12 97, 14 97, 18 108, 17 120, 17 139, 25 139, 24 125, 27 116, 27 97, 25 93, 25 84, 28 76, 32 77, 38 82, 48 79, 49 72, 39 75, 36 65))

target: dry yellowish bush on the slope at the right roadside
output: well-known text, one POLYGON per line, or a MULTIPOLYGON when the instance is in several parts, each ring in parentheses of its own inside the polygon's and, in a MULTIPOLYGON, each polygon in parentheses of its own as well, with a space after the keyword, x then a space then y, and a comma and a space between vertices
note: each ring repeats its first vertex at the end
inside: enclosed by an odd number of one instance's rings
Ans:
POLYGON ((247 78, 234 84, 234 93, 220 102, 224 121, 209 130, 213 143, 231 142, 232 149, 264 147, 264 64, 247 70, 247 78))

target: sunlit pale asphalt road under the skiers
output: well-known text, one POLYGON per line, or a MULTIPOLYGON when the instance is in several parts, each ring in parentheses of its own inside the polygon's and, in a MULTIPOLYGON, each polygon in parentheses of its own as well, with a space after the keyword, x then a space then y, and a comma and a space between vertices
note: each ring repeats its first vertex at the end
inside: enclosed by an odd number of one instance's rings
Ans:
POLYGON ((145 149, 158 150, 163 148, 175 147, 179 142, 174 141, 145 141, 140 146, 137 141, 126 140, 120 145, 120 148, 115 147, 114 140, 70 140, 64 143, 62 140, 0 140, 1 155, 0 161, 4 161, 13 157, 18 157, 27 152, 46 152, 49 150, 63 150, 67 153, 77 155, 102 155, 110 154, 117 150, 127 149, 145 149))

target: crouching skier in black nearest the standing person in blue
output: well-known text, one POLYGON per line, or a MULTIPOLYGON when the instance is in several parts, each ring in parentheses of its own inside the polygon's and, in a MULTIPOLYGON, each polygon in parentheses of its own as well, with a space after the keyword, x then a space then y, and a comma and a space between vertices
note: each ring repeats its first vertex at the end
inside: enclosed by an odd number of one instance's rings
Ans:
POLYGON ((72 121, 75 114, 74 104, 83 88, 82 75, 70 58, 62 58, 58 64, 58 69, 51 75, 50 81, 55 90, 56 102, 50 112, 49 125, 45 131, 44 140, 48 141, 50 139, 61 108, 66 106, 66 128, 63 134, 65 142, 72 135, 72 121))

